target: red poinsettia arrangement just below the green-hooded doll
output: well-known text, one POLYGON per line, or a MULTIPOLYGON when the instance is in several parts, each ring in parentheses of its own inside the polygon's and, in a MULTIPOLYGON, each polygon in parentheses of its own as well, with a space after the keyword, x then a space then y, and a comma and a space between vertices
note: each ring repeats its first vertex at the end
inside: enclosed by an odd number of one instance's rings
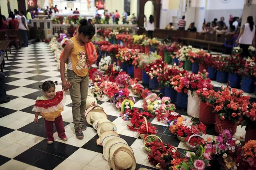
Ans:
POLYGON ((127 127, 133 131, 137 131, 138 128, 144 123, 145 119, 150 119, 153 116, 148 112, 139 112, 139 109, 133 108, 128 113, 128 117, 131 120, 131 125, 127 125, 127 127))

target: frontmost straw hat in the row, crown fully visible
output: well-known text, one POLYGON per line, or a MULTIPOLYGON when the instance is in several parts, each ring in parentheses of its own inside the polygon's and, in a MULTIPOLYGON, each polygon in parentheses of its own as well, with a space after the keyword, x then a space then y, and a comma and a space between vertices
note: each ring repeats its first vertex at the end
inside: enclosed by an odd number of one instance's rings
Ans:
POLYGON ((136 160, 129 149, 120 147, 113 154, 111 166, 113 170, 135 170, 136 160))

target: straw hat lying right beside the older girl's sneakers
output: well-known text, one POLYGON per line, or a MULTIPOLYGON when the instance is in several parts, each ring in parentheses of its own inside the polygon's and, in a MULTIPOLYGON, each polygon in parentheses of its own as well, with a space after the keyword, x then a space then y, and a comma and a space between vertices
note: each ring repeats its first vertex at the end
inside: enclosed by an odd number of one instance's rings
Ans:
POLYGON ((87 123, 93 125, 97 119, 107 119, 107 114, 100 105, 93 105, 85 111, 85 117, 87 123))

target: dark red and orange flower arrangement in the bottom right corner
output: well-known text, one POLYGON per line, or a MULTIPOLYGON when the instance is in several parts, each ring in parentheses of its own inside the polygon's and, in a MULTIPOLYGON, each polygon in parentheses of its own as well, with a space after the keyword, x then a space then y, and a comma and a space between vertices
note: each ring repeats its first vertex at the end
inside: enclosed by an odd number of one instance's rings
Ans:
POLYGON ((240 148, 236 160, 239 167, 244 170, 255 170, 256 168, 256 140, 249 140, 240 148))

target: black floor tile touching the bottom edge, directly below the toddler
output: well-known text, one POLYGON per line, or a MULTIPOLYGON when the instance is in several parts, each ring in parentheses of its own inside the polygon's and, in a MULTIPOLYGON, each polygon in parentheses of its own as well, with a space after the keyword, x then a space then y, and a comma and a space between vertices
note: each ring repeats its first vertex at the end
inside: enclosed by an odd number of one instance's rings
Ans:
POLYGON ((36 166, 44 170, 52 170, 64 160, 65 158, 55 156, 52 154, 46 154, 42 158, 34 162, 33 166, 36 166))

